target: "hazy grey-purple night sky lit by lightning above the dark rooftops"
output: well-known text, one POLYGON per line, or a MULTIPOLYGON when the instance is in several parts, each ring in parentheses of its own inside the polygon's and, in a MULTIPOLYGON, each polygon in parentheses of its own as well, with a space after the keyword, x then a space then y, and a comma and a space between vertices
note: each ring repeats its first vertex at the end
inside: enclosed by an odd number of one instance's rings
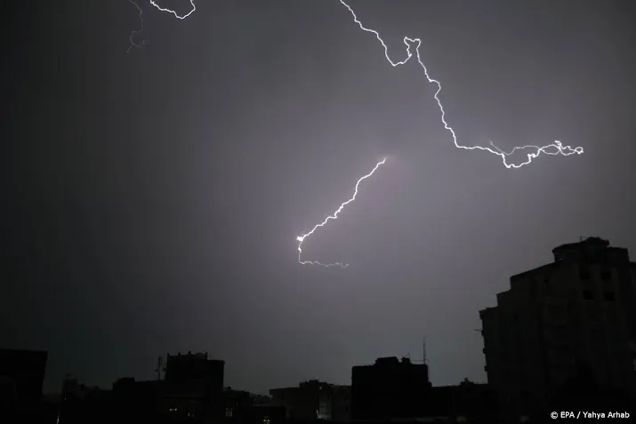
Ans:
MULTIPOLYGON (((337 0, 140 0, 4 11, 0 341, 108 388, 208 351, 267 393, 422 357, 486 381, 479 309, 551 249, 636 256, 636 6, 624 0, 350 1, 395 60, 404 36, 447 121, 488 140, 583 147, 519 170, 455 148, 415 60, 392 68, 337 0), (189 3, 165 1, 187 12, 189 3), (303 243, 296 236, 358 199, 303 243)), ((525 156, 514 157, 521 162, 525 156)))

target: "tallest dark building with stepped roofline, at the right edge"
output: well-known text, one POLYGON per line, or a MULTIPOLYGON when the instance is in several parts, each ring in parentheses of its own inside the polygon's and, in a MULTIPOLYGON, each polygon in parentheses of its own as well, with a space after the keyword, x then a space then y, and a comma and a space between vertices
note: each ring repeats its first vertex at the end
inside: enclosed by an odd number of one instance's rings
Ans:
POLYGON ((601 392, 634 394, 636 265, 597 237, 552 253, 553 262, 511 276, 497 306, 479 312, 488 382, 503 415, 517 419, 547 416, 555 399, 580 395, 575 387, 594 388, 594 402, 601 392))

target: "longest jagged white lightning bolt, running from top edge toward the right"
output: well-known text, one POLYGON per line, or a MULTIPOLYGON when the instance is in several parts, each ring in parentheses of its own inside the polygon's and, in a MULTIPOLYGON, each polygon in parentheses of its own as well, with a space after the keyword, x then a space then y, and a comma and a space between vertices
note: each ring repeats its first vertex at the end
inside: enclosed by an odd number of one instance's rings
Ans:
POLYGON ((457 141, 457 136, 455 135, 455 130, 453 130, 453 128, 447 123, 446 120, 446 112, 444 111, 444 107, 442 106, 442 102, 441 100, 439 100, 439 92, 441 92, 442 90, 442 86, 439 83, 438 80, 431 78, 431 76, 429 75, 429 71, 426 68, 426 66, 424 65, 422 58, 420 57, 420 46, 422 45, 422 40, 420 38, 410 38, 405 36, 403 39, 404 44, 407 46, 407 59, 402 60, 402 61, 393 61, 390 59, 389 56, 389 48, 387 47, 387 45, 384 43, 384 41, 382 40, 382 37, 380 36, 380 33, 378 33, 377 31, 375 31, 374 29, 370 29, 370 28, 366 28, 365 26, 362 25, 362 22, 360 22, 360 20, 358 20, 358 16, 356 16, 356 12, 353 11, 353 9, 351 9, 349 4, 346 4, 343 0, 339 0, 340 3, 346 7, 349 12, 351 13, 351 16, 353 16, 353 20, 354 22, 356 22, 358 24, 358 27, 360 27, 360 29, 362 29, 365 32, 371 33, 375 36, 375 38, 377 38, 377 40, 380 42, 380 44, 382 44, 382 47, 384 48, 384 57, 386 58, 386 60, 389 61, 389 63, 391 64, 391 66, 393 66, 393 68, 397 68, 400 65, 404 65, 405 63, 407 63, 408 60, 410 60, 413 57, 413 53, 411 52, 411 46, 412 44, 415 44, 415 56, 417 58, 417 62, 420 64, 420 67, 422 67, 423 71, 424 71, 424 75, 426 76, 426 79, 429 81, 429 83, 431 84, 436 84, 438 86, 438 90, 437 92, 435 92, 435 100, 437 100, 438 102, 438 106, 439 106, 439 111, 441 112, 441 121, 442 124, 444 124, 444 128, 447 129, 448 132, 451 133, 451 135, 453 136, 453 141, 455 143, 455 147, 456 148, 463 148, 466 150, 486 150, 487 152, 493 153, 497 156, 500 156, 502 158, 503 161, 503 165, 506 168, 520 168, 523 165, 529 164, 530 162, 532 162, 533 159, 535 159, 535 157, 538 157, 539 155, 541 155, 542 153, 545 155, 563 155, 563 156, 570 156, 573 154, 582 154, 583 153, 583 148, 571 148, 570 146, 563 146, 563 144, 561 144, 561 142, 559 140, 555 140, 552 144, 549 144, 547 146, 543 146, 543 147, 539 147, 539 146, 520 146, 517 148, 513 148, 510 152, 504 152, 501 148, 497 148, 495 146, 495 143, 493 143, 492 141, 490 141, 490 146, 491 147, 483 147, 483 146, 462 146, 458 143, 457 141), (527 161, 522 163, 522 164, 509 164, 506 159, 508 156, 511 156, 512 153, 514 153, 516 150, 522 150, 522 149, 526 149, 526 148, 530 148, 533 151, 527 154, 527 161))

